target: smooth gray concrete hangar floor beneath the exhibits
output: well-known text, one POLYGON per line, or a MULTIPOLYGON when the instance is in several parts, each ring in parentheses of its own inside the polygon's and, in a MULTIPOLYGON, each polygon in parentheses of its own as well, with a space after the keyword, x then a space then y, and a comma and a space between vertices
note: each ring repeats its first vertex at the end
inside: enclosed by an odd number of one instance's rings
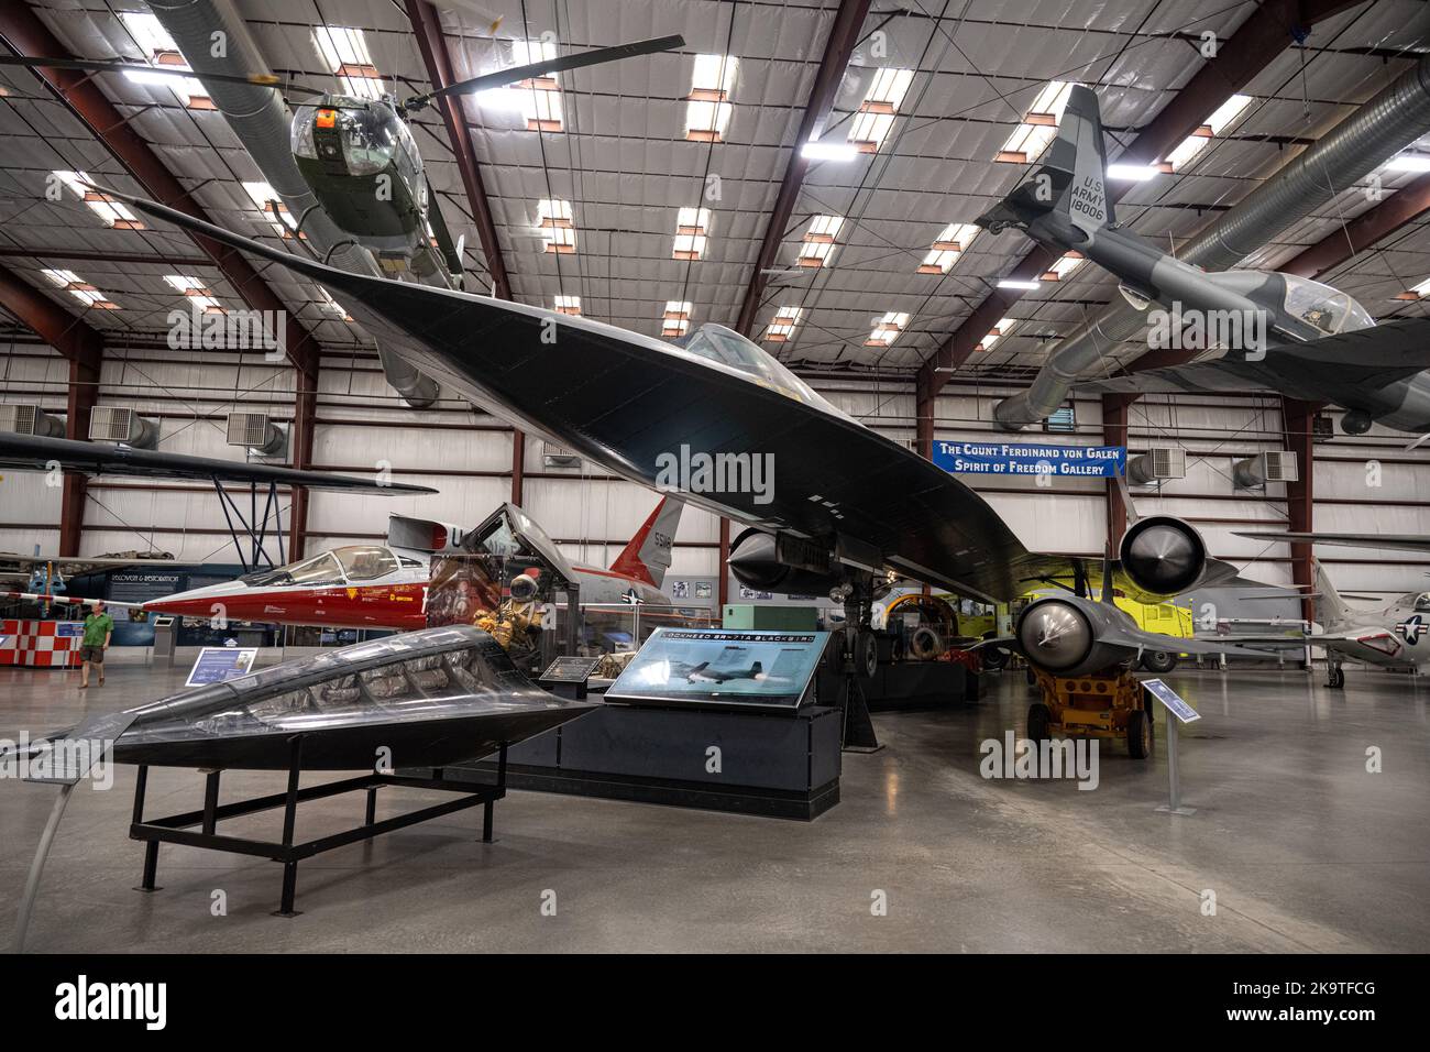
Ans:
MULTIPOLYGON (((1030 688, 991 677, 975 707, 878 714, 887 747, 845 757, 844 802, 814 823, 512 793, 496 843, 480 810, 300 866, 295 919, 269 916, 280 867, 166 846, 139 895, 127 839, 134 771, 70 803, 30 929, 31 950, 1135 950, 1430 949, 1430 680, 1348 670, 1174 673, 1203 713, 1183 736, 1191 817, 1160 814, 1158 751, 1101 751, 1101 784, 984 780, 978 743, 1022 731, 1030 688), (1384 773, 1366 773, 1366 749, 1384 773), (1203 893, 1217 896, 1216 916, 1203 893), (213 893, 227 915, 213 916, 213 893), (887 895, 887 916, 871 896, 887 895), (542 903, 555 893, 555 916, 542 903)), ((182 680, 113 661, 0 671, 0 736, 160 697, 182 680)), ((313 776, 310 780, 325 780, 313 776)), ((283 776, 225 776, 225 799, 283 776)), ((0 783, 0 937, 56 790, 0 783)), ((425 793, 392 792, 388 806, 425 793)), ((382 799, 382 797, 379 797, 382 799)), ((202 777, 150 776, 149 814, 200 806, 202 777)), ((299 812, 299 836, 360 819, 362 797, 299 812)), ((379 816, 382 814, 379 804, 379 816)), ((279 814, 232 823, 277 834, 279 814)))

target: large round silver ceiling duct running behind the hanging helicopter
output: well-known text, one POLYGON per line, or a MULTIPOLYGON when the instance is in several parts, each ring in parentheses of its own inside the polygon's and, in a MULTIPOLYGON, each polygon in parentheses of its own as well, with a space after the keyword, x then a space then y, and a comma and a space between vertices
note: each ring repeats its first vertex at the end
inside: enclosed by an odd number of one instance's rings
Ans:
MULTIPOLYGON (((200 76, 232 74, 235 70, 272 74, 247 26, 229 0, 149 0, 149 7, 179 44, 184 60, 200 76), (223 42, 220 56, 213 54, 216 40, 223 42)), ((223 80, 204 82, 204 90, 263 172, 269 186, 283 199, 289 215, 300 223, 307 243, 319 258, 343 271, 380 278, 382 268, 373 255, 355 245, 322 208, 316 208, 317 198, 293 162, 289 145, 293 117, 282 93, 273 87, 223 80)), ((380 346, 378 358, 388 382, 408 405, 425 409, 438 399, 436 381, 380 346)))

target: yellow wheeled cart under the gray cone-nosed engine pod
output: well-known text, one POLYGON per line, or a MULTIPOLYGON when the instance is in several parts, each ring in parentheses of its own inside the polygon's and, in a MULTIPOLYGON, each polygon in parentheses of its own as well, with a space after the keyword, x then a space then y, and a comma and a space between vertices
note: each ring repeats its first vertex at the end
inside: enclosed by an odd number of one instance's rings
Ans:
POLYGON ((1141 760, 1153 751, 1153 714, 1143 684, 1125 668, 1093 676, 1051 676, 1032 668, 1042 700, 1028 707, 1028 737, 1042 741, 1052 731, 1068 736, 1127 739, 1127 754, 1141 760))

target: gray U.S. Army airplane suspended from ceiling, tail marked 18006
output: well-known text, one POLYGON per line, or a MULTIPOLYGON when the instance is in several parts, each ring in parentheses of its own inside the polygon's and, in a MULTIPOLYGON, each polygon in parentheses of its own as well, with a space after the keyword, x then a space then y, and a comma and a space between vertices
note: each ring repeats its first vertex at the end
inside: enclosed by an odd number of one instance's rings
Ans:
POLYGON ((1117 225, 1105 185, 1097 96, 1077 84, 1047 160, 977 223, 991 233, 1015 226, 1041 245, 1081 252, 1118 278, 1134 306, 1170 312, 1178 336, 1183 323, 1200 325, 1205 346, 1185 364, 1074 384, 1127 392, 1270 388, 1346 406, 1347 434, 1373 422, 1430 431, 1430 318, 1377 325, 1320 282, 1266 271, 1208 273, 1180 262, 1117 225))

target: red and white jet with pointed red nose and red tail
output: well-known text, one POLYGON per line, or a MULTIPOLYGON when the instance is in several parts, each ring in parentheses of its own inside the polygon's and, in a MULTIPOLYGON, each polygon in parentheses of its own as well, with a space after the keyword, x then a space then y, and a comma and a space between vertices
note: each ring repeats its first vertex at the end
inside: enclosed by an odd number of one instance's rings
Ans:
POLYGON ((581 587, 581 605, 671 605, 661 591, 685 504, 666 497, 609 570, 568 564, 531 517, 505 504, 475 531, 393 515, 388 544, 353 544, 235 581, 150 600, 144 610, 182 617, 333 628, 423 628, 433 554, 462 554, 476 535, 496 554, 535 552, 581 587), (490 525, 490 528, 489 528, 490 525))

